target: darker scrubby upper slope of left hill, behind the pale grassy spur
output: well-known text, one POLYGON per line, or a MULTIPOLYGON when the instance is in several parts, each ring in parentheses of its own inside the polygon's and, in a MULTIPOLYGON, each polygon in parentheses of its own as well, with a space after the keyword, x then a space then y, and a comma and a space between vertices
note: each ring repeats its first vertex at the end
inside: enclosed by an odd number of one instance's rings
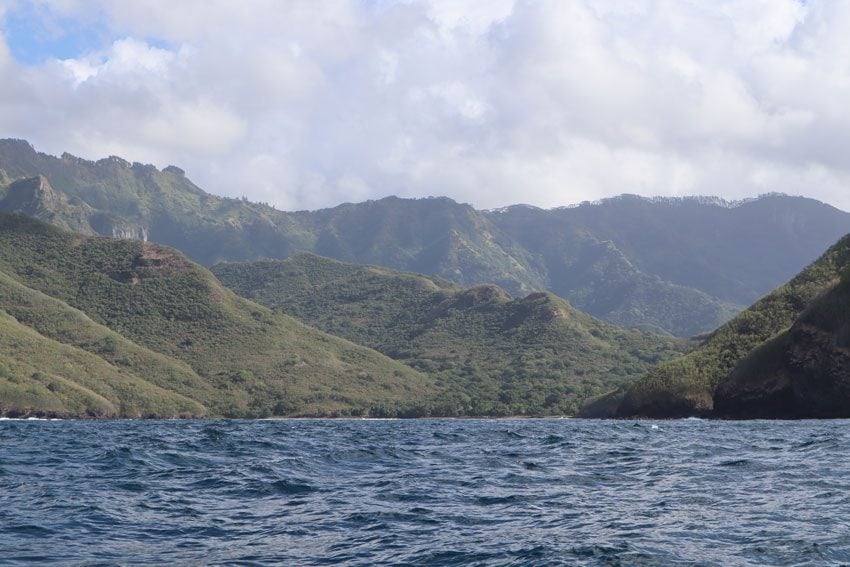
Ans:
MULTIPOLYGON (((182 361, 171 368, 185 383, 170 389, 203 400, 212 414, 398 410, 433 390, 404 365, 235 296, 162 246, 87 238, 2 215, 0 270, 132 341, 137 355, 144 349, 182 361)), ((107 348, 131 348, 115 339, 107 348)), ((90 350, 102 340, 89 341, 90 350)))

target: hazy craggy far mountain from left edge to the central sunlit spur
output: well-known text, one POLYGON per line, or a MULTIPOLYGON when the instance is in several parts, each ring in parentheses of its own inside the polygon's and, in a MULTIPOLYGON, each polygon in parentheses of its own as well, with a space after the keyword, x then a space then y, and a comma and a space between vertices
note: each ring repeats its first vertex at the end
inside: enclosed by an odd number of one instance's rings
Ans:
MULTIPOLYGON (((100 234, 168 244, 204 265, 312 251, 462 284, 503 283, 524 292, 544 286, 528 252, 478 211, 450 199, 388 198, 284 213, 205 193, 175 166, 159 171, 116 156, 96 162, 67 153, 57 158, 23 140, 0 140, 0 168, 12 179, 45 176, 70 199, 86 203, 100 234)), ((0 210, 25 212, 2 203, 0 210)))

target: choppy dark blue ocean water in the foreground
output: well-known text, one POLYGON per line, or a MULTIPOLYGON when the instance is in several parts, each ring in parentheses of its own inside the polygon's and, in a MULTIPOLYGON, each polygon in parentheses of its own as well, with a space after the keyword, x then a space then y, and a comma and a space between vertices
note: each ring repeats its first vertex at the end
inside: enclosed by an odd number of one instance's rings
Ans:
POLYGON ((850 562, 850 422, 0 421, 0 563, 850 562))

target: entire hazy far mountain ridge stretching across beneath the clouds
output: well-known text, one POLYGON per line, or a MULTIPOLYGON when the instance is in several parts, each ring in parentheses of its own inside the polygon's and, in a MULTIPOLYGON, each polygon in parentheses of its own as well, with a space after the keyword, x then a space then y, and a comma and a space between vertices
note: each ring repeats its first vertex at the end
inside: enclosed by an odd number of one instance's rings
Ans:
POLYGON ((22 140, 0 140, 0 170, 2 211, 168 244, 206 266, 311 252, 515 297, 549 291, 608 322, 677 336, 716 328, 850 232, 847 213, 776 194, 494 211, 389 197, 290 213, 210 195, 175 166, 54 157, 22 140))

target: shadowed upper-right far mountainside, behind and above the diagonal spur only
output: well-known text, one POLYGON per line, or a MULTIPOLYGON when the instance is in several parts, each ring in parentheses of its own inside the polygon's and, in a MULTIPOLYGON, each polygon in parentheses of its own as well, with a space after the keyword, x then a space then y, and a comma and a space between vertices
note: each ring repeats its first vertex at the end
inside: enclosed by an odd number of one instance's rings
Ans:
POLYGON ((751 305, 850 233, 850 214, 814 199, 623 196, 553 211, 614 242, 642 271, 724 301, 751 305))

